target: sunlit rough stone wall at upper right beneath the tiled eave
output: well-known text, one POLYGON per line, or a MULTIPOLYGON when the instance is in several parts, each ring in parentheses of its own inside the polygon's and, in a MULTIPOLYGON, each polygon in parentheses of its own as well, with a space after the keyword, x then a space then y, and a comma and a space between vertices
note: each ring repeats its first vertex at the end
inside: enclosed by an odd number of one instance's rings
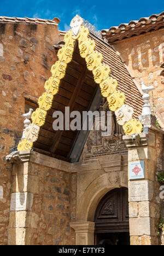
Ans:
POLYGON ((162 128, 164 128, 164 91, 160 66, 164 62, 163 33, 162 29, 113 44, 136 82, 139 85, 140 82, 145 82, 145 85, 155 87, 153 94, 156 116, 162 128))

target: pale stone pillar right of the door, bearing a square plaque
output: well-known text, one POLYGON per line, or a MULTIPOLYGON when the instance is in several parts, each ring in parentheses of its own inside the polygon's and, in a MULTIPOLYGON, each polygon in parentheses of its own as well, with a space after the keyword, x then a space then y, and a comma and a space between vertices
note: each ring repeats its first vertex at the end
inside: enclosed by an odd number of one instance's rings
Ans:
POLYGON ((144 127, 147 133, 124 136, 128 148, 128 199, 131 245, 158 245, 156 223, 160 218, 158 162, 162 158, 163 131, 144 127), (130 179, 129 166, 144 161, 145 177, 130 179))

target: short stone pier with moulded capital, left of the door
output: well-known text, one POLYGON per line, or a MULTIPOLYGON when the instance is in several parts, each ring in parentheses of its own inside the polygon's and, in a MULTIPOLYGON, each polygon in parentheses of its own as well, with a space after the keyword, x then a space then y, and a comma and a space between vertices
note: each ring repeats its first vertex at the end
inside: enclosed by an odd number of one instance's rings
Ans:
POLYGON ((76 245, 94 245, 94 222, 74 222, 70 226, 75 230, 76 245))

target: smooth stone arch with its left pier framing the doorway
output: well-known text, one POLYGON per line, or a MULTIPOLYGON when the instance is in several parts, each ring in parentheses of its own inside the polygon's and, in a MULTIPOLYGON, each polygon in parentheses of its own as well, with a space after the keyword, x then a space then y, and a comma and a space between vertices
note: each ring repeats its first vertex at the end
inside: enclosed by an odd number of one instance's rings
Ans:
POLYGON ((121 172, 107 172, 97 177, 84 191, 77 206, 76 222, 70 223, 75 230, 76 245, 94 245, 95 212, 99 201, 110 190, 126 187, 121 172))

